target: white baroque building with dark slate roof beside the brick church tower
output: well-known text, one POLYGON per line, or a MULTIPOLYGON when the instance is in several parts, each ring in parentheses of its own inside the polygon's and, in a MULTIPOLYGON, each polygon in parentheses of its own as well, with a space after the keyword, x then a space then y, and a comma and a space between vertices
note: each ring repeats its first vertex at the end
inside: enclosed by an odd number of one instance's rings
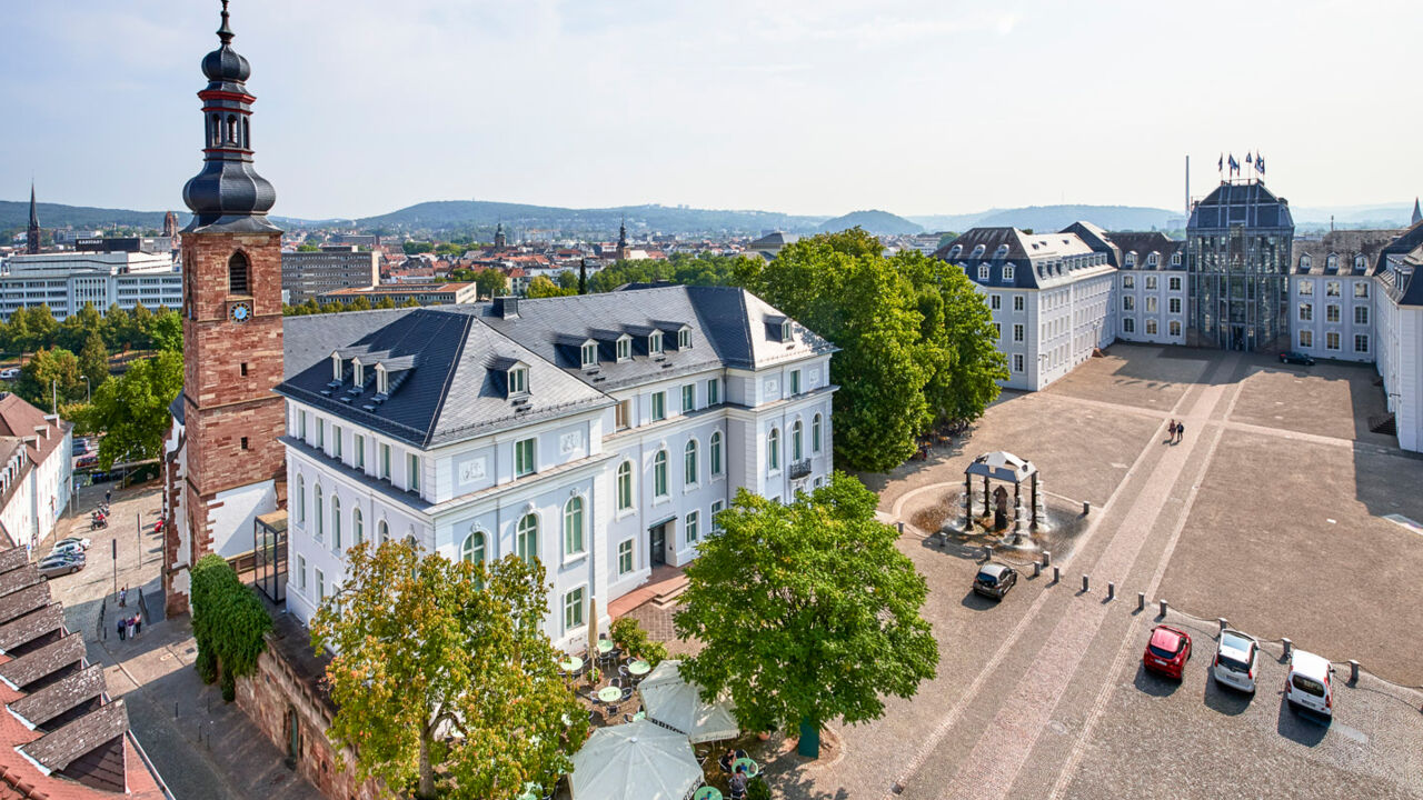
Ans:
POLYGON ((287 608, 307 621, 366 540, 539 558, 549 638, 683 565, 737 490, 831 471, 834 347, 754 295, 669 286, 293 317, 287 608))

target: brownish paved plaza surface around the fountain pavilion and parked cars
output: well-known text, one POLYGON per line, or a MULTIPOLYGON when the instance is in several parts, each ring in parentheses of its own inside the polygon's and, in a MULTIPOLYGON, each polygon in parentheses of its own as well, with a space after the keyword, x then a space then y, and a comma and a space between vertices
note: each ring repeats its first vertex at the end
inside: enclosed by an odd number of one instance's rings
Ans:
POLYGON ((787 797, 1423 797, 1423 460, 1368 433, 1382 390, 1365 367, 1281 369, 1264 356, 1117 344, 1046 391, 1005 397, 966 441, 871 481, 911 520, 956 500, 963 467, 1010 450, 1060 501, 1093 501, 1059 551, 1063 579, 1002 604, 968 588, 976 562, 912 527, 901 548, 929 581, 938 676, 882 720, 837 727, 834 763, 771 764, 787 797), (1168 419, 1180 444, 1164 444, 1168 419), (951 500, 951 501, 952 501, 951 500), (1081 592, 1080 575, 1091 575, 1081 592), (1118 586, 1116 601, 1106 585, 1118 586), (1148 606, 1137 611, 1137 592, 1148 606), (1165 596, 1192 629, 1181 685, 1140 673, 1165 596), (1266 643, 1254 699, 1205 678, 1217 616, 1291 636, 1335 662, 1336 720, 1282 706, 1266 643), (1389 680, 1395 683, 1389 683, 1389 680))

